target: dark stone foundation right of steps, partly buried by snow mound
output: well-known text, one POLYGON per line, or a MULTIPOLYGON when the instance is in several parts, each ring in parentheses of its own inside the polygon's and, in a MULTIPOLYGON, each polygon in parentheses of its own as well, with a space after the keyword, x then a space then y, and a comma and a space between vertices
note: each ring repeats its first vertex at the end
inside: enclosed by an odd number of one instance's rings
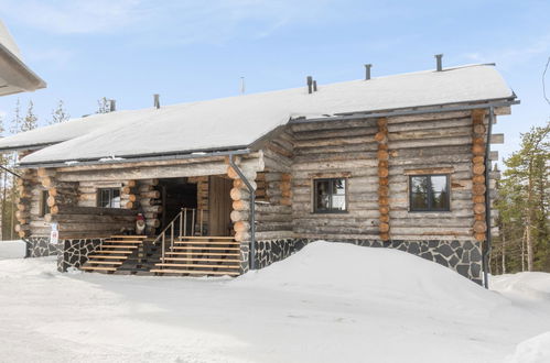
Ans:
MULTIPOLYGON (((256 267, 263 268, 273 262, 287 258, 300 251, 308 243, 306 239, 281 239, 256 242, 256 267)), ((392 240, 344 240, 338 242, 353 243, 368 248, 389 248, 408 252, 422 258, 436 262, 456 271, 462 276, 482 284, 482 252, 478 242, 474 241, 402 241, 392 240)), ((248 245, 241 249, 242 271, 248 271, 248 245)))

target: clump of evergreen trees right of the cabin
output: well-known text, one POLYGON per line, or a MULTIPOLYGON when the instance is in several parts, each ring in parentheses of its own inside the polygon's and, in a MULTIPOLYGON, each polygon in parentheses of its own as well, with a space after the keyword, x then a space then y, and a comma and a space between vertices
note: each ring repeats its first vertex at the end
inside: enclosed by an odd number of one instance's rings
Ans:
POLYGON ((550 122, 522 134, 521 148, 505 165, 495 202, 500 235, 494 254, 500 258, 494 271, 550 272, 550 122))

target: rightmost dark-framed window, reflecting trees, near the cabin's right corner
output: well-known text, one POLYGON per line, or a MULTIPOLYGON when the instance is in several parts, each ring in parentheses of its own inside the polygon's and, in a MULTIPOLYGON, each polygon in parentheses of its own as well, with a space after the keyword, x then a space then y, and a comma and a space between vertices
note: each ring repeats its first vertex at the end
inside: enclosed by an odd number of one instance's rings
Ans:
POLYGON ((410 176, 411 211, 449 211, 449 175, 410 176))

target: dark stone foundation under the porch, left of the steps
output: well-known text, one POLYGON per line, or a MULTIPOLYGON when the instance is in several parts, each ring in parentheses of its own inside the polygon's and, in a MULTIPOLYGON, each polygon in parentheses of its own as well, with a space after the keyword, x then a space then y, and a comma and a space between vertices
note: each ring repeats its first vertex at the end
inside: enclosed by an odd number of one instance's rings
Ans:
POLYGON ((26 257, 57 256, 60 272, 80 267, 88 260, 88 254, 101 244, 101 239, 60 240, 57 244, 50 243, 48 237, 32 237, 23 241, 26 243, 26 257))

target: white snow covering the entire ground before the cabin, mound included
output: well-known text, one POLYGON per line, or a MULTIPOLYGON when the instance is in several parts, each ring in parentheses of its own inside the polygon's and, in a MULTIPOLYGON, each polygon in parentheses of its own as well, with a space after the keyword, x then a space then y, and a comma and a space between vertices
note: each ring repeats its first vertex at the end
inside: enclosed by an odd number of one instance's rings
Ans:
POLYGON ((485 290, 400 251, 325 242, 235 279, 4 260, 0 362, 550 362, 549 282, 485 290))

